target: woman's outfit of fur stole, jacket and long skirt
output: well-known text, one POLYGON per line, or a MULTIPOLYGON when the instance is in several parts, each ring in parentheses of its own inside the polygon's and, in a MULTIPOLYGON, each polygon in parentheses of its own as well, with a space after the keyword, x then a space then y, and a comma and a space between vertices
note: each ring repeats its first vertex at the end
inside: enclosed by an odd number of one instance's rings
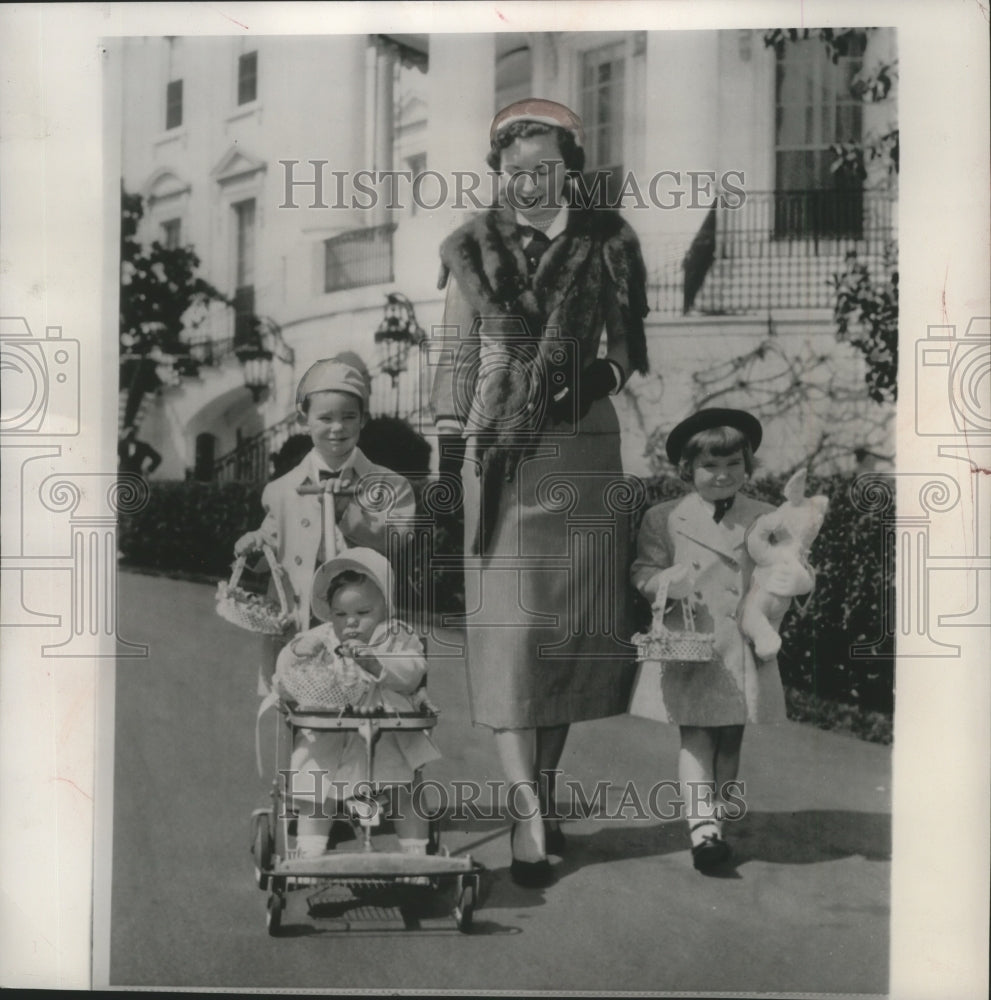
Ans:
POLYGON ((484 539, 465 562, 472 718, 532 728, 625 712, 629 515, 641 493, 622 472, 612 402, 552 424, 542 392, 574 385, 603 330, 606 357, 646 368, 636 236, 615 213, 571 210, 528 282, 515 222, 494 210, 441 257, 434 415, 468 438, 466 551, 484 539))

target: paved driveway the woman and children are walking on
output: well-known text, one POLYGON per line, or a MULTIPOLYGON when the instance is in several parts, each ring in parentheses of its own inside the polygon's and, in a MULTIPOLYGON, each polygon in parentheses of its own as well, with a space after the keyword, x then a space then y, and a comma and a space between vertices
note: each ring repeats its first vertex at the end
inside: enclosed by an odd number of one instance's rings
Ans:
MULTIPOLYGON (((117 669, 111 985, 886 991, 890 749, 795 723, 747 733, 733 877, 692 869, 680 822, 636 815, 629 789, 646 802, 674 778, 677 733, 616 717, 576 726, 562 766, 587 794, 608 782, 603 801, 625 818, 566 824, 551 888, 509 880, 501 813, 457 820, 444 842, 489 873, 472 935, 446 919, 342 933, 290 910, 286 935, 269 937, 247 833, 268 787, 254 767, 257 640, 214 615, 203 584, 123 574, 120 600, 122 634, 151 658, 117 669)), ((427 776, 498 778, 491 737, 467 719, 462 662, 438 656, 431 671, 446 756, 427 776)))

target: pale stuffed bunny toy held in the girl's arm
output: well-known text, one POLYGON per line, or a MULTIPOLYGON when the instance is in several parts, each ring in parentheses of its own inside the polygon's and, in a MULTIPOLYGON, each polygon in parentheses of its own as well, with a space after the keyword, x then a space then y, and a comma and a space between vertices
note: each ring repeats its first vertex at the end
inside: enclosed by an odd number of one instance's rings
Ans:
POLYGON ((784 495, 777 510, 754 521, 746 541, 756 568, 741 604, 740 628, 761 660, 781 648, 781 636, 769 619, 780 620, 792 597, 810 593, 815 585, 807 556, 829 504, 824 496, 805 495, 804 469, 788 480, 784 495))

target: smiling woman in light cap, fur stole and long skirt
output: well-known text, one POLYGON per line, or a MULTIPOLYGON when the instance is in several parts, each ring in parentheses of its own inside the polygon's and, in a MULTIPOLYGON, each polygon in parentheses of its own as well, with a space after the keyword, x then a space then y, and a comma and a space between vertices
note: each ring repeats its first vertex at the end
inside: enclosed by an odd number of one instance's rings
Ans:
POLYGON ((577 115, 519 101, 490 141, 500 204, 441 246, 432 404, 442 478, 456 468, 464 487, 472 719, 495 731, 509 785, 511 875, 542 886, 564 850, 554 778, 568 727, 625 712, 632 684, 621 637, 639 491, 609 397, 647 370, 646 278, 633 230, 580 203, 577 115))

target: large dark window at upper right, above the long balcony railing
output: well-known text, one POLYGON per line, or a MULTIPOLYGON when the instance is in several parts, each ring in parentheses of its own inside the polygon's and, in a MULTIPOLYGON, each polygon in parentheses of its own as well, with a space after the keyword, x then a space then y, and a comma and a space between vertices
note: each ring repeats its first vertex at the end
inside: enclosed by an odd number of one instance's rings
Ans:
POLYGON ((786 45, 775 82, 775 232, 856 235, 862 226, 861 181, 831 167, 834 144, 860 142, 863 105, 850 84, 863 40, 833 63, 825 45, 786 45))

